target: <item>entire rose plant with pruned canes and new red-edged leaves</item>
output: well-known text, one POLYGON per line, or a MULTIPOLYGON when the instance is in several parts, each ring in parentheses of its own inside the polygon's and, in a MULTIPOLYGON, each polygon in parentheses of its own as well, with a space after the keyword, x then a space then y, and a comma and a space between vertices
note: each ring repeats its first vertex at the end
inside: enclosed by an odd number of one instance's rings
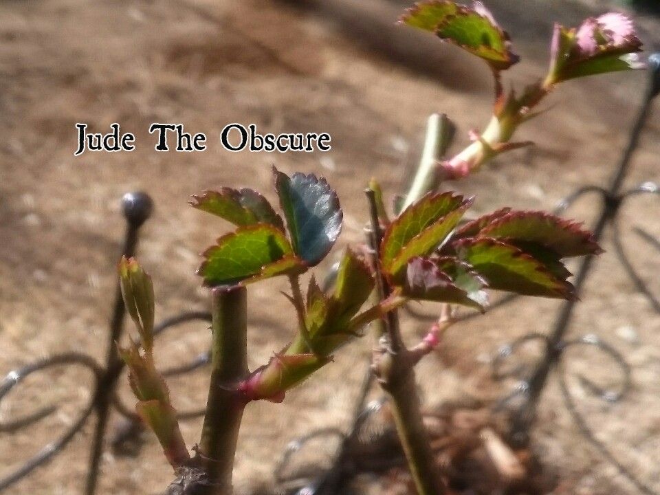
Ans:
POLYGON ((538 104, 566 80, 635 69, 641 43, 630 19, 609 13, 578 28, 555 25, 549 72, 520 94, 505 91, 501 74, 518 62, 505 30, 481 2, 417 3, 401 22, 426 30, 482 58, 492 69, 496 100, 483 133, 454 157, 420 168, 393 214, 377 181, 367 189, 369 246, 349 248, 336 283, 324 292, 309 274, 329 254, 342 229, 338 196, 325 179, 273 168, 281 212, 259 192, 220 188, 190 204, 235 225, 203 253, 197 274, 212 307, 211 380, 199 445, 181 437, 177 415, 153 361, 153 287, 134 259, 122 259, 124 302, 137 338, 120 353, 129 366, 137 413, 155 432, 177 474, 169 494, 231 495, 241 417, 251 401, 280 402, 287 391, 333 360, 340 348, 377 322, 372 371, 388 395, 401 445, 419 495, 445 493, 422 422, 415 365, 454 323, 453 307, 485 311, 491 290, 544 298, 575 297, 564 260, 601 252, 590 232, 547 212, 501 208, 470 221, 473 198, 440 192, 439 185, 476 172, 493 157, 528 143, 512 142, 518 127, 539 115, 538 104), (309 275, 309 276, 308 276, 309 275), (284 349, 263 366, 247 365, 246 293, 268 278, 288 278, 285 294, 296 329, 284 349), (307 277, 303 292, 301 279, 307 277), (442 303, 428 336, 408 348, 397 308, 412 300, 442 303), (193 452, 191 455, 190 452, 193 452))

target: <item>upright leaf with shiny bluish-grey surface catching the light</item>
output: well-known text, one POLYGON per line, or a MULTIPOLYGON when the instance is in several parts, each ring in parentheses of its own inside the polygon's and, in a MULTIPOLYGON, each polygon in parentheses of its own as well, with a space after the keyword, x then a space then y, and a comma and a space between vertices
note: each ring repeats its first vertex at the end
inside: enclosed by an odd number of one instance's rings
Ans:
POLYGON ((289 177, 276 168, 273 173, 294 252, 307 265, 318 265, 342 230, 343 213, 337 193, 323 177, 301 173, 289 177))

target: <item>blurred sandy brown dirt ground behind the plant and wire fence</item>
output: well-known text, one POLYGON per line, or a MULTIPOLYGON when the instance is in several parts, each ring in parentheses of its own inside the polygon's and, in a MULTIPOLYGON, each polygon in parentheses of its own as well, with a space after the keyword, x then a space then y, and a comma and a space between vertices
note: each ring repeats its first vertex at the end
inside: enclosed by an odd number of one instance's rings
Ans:
MULTIPOLYGON (((155 213, 144 228, 140 259, 153 276, 160 318, 206 307, 193 275, 197 255, 228 226, 186 205, 189 195, 221 185, 252 186, 273 197, 270 166, 325 175, 344 207, 341 245, 362 240, 362 189, 375 175, 389 195, 404 189, 419 157, 429 113, 448 113, 467 130, 485 124, 492 89, 487 70, 452 47, 394 28, 405 5, 392 0, 9 0, 0 4, 0 373, 35 358, 106 352, 114 266, 123 232, 119 199, 146 190, 155 213), (112 122, 137 136, 132 153, 74 157, 76 122, 107 132, 112 122), (203 153, 156 153, 152 122, 180 122, 208 135, 203 153), (229 122, 272 133, 327 132, 327 154, 229 153, 219 143, 229 122)), ((607 8, 603 1, 492 1, 523 61, 511 78, 542 76, 551 21, 577 23, 607 8)), ((641 19, 643 39, 658 23, 641 19)), ((477 196, 475 213, 500 206, 549 209, 582 184, 604 185, 613 172, 641 97, 644 75, 617 74, 570 83, 551 97, 551 111, 521 139, 537 143, 448 187, 477 196)), ((648 126, 627 184, 660 179, 660 120, 648 126)), ((590 221, 593 198, 569 216, 590 221)), ((657 200, 637 197, 621 212, 626 249, 643 278, 660 291, 660 256, 632 229, 660 237, 657 200)), ((625 401, 603 405, 571 379, 580 410, 621 461, 660 490, 660 318, 635 292, 610 242, 597 261, 572 327, 596 333, 624 353, 634 386, 625 401)), ((340 252, 340 247, 335 253, 340 252)), ((320 268, 322 270, 323 267, 320 268)), ((292 336, 281 281, 250 289, 250 365, 259 366, 292 336)), ((525 300, 469 320, 448 333, 421 366, 428 404, 507 390, 489 380, 488 362, 505 342, 547 331, 558 303, 525 300)), ((409 322, 411 338, 424 324, 409 322)), ((206 325, 170 331, 158 343, 163 364, 185 362, 208 345, 206 325)), ((284 404, 254 404, 241 430, 236 488, 248 493, 272 481, 288 441, 319 426, 347 428, 369 351, 366 340, 343 349, 284 404)), ((598 355, 566 355, 569 373, 615 381, 598 355)), ((0 477, 70 424, 89 396, 80 370, 57 370, 2 404, 2 418, 21 407, 56 401, 57 414, 38 426, 0 434, 0 477)), ((124 382, 122 381, 122 384, 124 382)), ((203 371, 171 382, 175 405, 203 404, 203 371)), ((510 385, 510 384, 509 384, 510 385)), ((124 387, 125 388, 125 387, 124 387)), ((124 393, 126 397, 127 394, 124 393)), ((117 418, 113 417, 113 423, 117 418)), ((90 425, 54 459, 8 490, 73 494, 83 487, 90 425)), ((183 423, 189 445, 200 421, 183 423)), ((630 485, 578 434, 556 382, 543 396, 536 444, 557 470, 558 494, 633 494, 630 485)), ((170 477, 155 441, 137 459, 104 455, 100 494, 158 492, 170 477), (148 461, 147 461, 148 460, 148 461), (146 487, 146 489, 145 489, 146 487)))

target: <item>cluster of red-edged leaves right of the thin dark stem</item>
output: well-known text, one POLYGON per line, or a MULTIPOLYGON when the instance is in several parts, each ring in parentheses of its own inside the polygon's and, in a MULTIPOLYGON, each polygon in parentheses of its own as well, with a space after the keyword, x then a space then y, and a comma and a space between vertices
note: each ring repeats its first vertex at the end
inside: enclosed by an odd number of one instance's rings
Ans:
POLYGON ((564 259, 601 252, 580 224, 544 212, 503 208, 459 225, 471 205, 429 192, 387 225, 380 266, 401 296, 482 311, 486 288, 570 299, 564 259))

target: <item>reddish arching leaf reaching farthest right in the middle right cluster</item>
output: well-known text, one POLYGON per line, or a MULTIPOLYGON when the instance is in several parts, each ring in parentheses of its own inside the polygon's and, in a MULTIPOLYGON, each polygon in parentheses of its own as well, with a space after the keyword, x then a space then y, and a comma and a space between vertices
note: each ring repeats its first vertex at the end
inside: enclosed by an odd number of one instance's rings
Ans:
POLYGON ((478 237, 503 239, 507 243, 535 243, 560 258, 602 252, 593 234, 581 224, 545 212, 509 212, 486 225, 478 237))

